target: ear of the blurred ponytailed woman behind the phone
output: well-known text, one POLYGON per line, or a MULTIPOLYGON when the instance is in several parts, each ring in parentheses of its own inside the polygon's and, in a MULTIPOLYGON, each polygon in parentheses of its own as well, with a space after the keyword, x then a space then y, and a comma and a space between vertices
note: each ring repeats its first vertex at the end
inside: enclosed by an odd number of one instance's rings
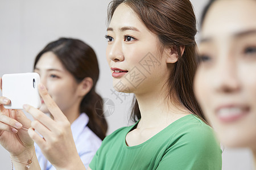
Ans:
POLYGON ((93 87, 93 80, 90 77, 84 78, 77 87, 77 93, 79 96, 84 97, 93 87))

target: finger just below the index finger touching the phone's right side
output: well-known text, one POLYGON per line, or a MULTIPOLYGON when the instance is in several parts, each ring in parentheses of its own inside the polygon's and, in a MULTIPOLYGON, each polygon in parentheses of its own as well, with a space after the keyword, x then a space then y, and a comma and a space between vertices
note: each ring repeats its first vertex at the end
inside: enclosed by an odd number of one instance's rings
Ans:
POLYGON ((52 118, 48 117, 45 113, 27 104, 24 104, 23 108, 27 113, 30 113, 35 120, 38 120, 39 122, 41 122, 44 126, 46 126, 51 131, 56 129, 56 126, 55 126, 56 122, 52 120, 52 118))

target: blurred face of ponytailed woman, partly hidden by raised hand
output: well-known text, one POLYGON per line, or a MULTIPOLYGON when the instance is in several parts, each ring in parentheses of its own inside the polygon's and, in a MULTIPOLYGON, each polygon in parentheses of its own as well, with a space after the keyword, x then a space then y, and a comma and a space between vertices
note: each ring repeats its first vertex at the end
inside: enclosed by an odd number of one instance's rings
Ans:
MULTIPOLYGON (((77 82, 55 54, 44 53, 36 63, 34 71, 40 75, 41 82, 61 111, 65 113, 79 102, 76 94, 77 82)), ((43 101, 40 110, 44 113, 49 112, 43 101)))

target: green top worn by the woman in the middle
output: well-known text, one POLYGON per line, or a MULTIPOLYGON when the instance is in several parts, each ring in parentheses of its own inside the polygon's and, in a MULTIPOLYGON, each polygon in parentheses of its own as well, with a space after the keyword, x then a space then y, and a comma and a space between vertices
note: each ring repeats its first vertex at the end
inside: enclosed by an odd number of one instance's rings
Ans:
POLYGON ((137 124, 106 137, 89 167, 92 170, 221 170, 220 144, 212 128, 195 115, 181 117, 146 142, 129 147, 126 134, 137 124))

